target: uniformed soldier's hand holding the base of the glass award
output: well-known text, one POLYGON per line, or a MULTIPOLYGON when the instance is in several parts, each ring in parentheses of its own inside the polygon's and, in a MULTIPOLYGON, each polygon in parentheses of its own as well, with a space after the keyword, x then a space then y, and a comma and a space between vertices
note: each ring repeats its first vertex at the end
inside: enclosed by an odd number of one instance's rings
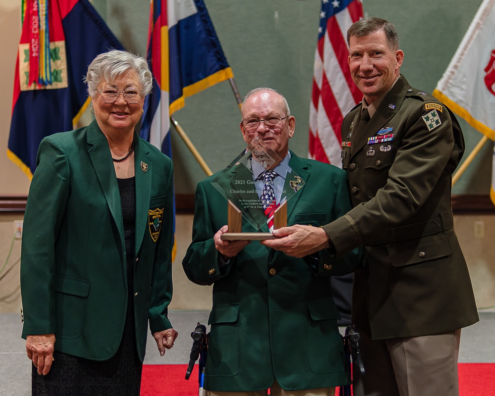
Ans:
POLYGON ((302 225, 282 227, 273 230, 273 235, 277 238, 260 243, 294 257, 304 257, 330 247, 327 233, 318 227, 302 225))

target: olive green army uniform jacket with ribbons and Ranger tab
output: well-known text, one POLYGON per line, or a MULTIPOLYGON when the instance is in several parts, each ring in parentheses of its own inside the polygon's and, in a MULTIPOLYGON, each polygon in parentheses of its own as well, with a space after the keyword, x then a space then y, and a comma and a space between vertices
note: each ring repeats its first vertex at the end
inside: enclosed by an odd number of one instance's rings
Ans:
POLYGON ((403 76, 363 130, 360 110, 342 126, 353 209, 324 226, 338 254, 364 245, 365 267, 354 274, 353 322, 374 339, 477 322, 450 206, 451 174, 464 151, 457 120, 403 76), (379 142, 386 135, 392 139, 379 142))

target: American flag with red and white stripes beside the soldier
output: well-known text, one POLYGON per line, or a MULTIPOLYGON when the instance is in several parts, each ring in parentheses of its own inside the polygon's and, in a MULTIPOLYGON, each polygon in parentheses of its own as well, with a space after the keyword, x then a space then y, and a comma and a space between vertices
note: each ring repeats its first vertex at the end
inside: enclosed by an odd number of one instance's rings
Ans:
POLYGON ((347 29, 363 17, 359 0, 322 0, 309 109, 309 157, 341 166, 341 125, 363 95, 350 77, 347 29))

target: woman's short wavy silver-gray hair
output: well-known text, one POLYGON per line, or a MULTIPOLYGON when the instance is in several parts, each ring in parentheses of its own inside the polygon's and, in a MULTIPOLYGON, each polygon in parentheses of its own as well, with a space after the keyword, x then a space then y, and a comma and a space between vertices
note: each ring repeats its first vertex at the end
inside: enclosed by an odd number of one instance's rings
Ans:
POLYGON ((139 83, 143 87, 144 96, 151 92, 153 77, 145 58, 137 56, 129 51, 112 49, 100 53, 88 66, 88 73, 84 82, 88 84, 88 94, 94 98, 98 85, 102 81, 115 81, 115 79, 129 70, 136 72, 139 83))

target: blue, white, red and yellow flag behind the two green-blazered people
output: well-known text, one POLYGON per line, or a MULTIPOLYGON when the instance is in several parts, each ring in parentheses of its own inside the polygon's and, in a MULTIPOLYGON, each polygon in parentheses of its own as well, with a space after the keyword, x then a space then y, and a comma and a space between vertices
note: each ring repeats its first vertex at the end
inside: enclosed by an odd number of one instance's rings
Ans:
POLYGON ((169 117, 184 98, 233 77, 203 0, 151 0, 147 59, 141 136, 170 156, 169 117))

